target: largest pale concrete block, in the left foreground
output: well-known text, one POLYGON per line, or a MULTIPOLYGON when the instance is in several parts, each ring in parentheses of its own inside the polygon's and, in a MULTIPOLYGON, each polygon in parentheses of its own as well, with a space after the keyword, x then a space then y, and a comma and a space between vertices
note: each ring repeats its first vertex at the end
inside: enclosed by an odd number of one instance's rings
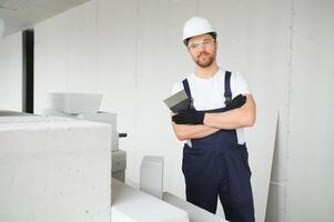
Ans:
POLYGON ((0 118, 0 220, 110 222, 111 128, 0 118))

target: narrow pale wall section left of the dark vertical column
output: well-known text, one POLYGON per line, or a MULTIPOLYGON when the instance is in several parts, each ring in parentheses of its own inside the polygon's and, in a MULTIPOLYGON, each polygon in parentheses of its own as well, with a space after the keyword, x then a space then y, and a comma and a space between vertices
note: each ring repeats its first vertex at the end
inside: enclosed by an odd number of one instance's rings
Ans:
POLYGON ((0 40, 0 110, 22 111, 22 36, 0 40))

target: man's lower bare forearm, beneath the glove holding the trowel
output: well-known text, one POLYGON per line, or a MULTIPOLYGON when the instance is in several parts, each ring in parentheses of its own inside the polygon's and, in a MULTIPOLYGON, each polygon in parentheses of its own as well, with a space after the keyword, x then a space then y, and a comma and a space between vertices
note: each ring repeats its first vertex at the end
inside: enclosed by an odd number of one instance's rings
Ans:
POLYGON ((220 130, 203 124, 190 125, 190 124, 175 124, 174 122, 172 124, 176 138, 181 141, 204 138, 220 130))

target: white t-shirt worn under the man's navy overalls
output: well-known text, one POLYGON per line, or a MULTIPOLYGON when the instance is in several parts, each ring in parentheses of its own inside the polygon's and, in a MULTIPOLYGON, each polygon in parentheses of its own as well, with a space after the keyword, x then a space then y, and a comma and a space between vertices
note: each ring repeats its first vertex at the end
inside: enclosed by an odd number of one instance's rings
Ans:
MULTIPOLYGON (((194 73, 188 75, 188 82, 193 98, 193 105, 196 110, 214 110, 225 107, 225 70, 220 69, 217 73, 210 79, 198 78, 194 73)), ((231 91, 232 98, 239 94, 250 94, 250 88, 246 79, 240 72, 232 72, 231 74, 231 91)), ((183 90, 183 84, 176 82, 173 85, 172 94, 183 90)), ((237 129, 237 143, 243 144, 244 141, 244 129, 237 129)), ((191 142, 188 141, 191 145, 191 142)))

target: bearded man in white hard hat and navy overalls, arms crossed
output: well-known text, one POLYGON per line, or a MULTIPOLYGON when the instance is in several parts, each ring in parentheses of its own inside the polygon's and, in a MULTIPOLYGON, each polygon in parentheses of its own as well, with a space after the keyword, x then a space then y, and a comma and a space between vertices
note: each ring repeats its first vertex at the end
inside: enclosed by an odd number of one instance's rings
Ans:
POLYGON ((183 42, 195 72, 174 84, 185 90, 193 108, 172 117, 174 133, 186 140, 182 171, 186 200, 212 213, 217 196, 231 222, 254 221, 251 170, 243 128, 255 122, 255 102, 241 73, 216 62, 216 32, 201 17, 188 20, 183 42))

